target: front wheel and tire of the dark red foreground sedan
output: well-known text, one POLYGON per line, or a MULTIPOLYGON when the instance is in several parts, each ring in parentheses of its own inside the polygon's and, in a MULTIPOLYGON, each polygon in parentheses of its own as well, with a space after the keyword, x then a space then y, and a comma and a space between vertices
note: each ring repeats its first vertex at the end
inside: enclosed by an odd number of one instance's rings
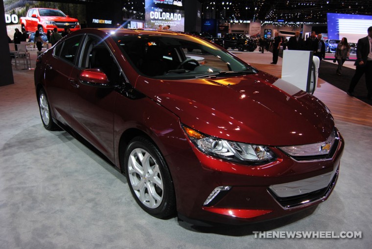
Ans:
POLYGON ((131 193, 150 215, 166 219, 176 211, 173 181, 163 155, 149 140, 135 137, 125 150, 125 173, 131 193))

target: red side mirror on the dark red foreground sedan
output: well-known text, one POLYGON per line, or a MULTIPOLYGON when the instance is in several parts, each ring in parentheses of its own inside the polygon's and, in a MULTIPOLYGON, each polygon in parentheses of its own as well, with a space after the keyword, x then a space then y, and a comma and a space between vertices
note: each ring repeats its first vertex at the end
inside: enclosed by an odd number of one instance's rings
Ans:
POLYGON ((84 69, 79 74, 79 81, 87 86, 112 88, 107 75, 99 69, 84 69))

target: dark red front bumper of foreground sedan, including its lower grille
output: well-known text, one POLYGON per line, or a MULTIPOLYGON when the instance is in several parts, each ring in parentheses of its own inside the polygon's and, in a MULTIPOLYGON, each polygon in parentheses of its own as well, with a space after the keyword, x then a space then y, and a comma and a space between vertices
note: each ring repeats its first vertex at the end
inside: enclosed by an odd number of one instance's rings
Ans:
POLYGON ((343 148, 340 137, 331 158, 311 161, 296 161, 278 149, 277 161, 255 167, 222 161, 196 148, 168 155, 169 164, 177 165, 172 175, 179 217, 191 223, 246 224, 317 205, 335 187, 343 148), (219 186, 231 188, 204 205, 219 186))

